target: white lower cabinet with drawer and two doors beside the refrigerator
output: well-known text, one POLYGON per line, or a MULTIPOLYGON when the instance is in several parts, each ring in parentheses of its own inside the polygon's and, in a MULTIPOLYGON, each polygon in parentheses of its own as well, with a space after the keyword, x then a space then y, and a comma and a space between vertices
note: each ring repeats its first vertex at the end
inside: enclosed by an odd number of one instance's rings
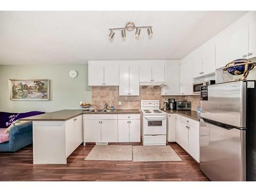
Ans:
POLYGON ((176 142, 199 162, 199 122, 176 115, 176 142))

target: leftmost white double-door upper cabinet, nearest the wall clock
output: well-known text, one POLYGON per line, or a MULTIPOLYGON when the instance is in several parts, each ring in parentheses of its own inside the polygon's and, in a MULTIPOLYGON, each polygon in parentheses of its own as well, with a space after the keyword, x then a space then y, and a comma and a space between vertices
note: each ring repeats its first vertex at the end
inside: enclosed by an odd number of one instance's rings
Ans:
POLYGON ((89 86, 118 86, 118 61, 88 61, 89 86))

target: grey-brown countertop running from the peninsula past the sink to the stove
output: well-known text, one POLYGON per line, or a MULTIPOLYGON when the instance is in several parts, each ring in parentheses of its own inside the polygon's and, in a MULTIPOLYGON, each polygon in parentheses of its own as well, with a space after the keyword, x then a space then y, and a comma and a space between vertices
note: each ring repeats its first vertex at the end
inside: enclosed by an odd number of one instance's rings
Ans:
POLYGON ((88 112, 84 110, 60 110, 32 117, 19 119, 20 121, 66 121, 81 114, 140 114, 139 110, 116 110, 115 112, 88 112))

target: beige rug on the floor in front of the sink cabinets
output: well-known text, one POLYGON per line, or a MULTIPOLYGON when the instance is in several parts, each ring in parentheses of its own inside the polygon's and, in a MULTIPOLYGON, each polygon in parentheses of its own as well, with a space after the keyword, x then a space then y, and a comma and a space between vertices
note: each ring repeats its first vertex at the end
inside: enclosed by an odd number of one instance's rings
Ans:
POLYGON ((95 145, 84 160, 132 161, 132 145, 95 145))

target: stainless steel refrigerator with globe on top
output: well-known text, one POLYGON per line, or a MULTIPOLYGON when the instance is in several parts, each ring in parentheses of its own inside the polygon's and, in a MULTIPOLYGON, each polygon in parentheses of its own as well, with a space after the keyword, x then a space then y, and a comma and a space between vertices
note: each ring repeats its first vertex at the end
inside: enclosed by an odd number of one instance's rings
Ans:
POLYGON ((255 81, 201 87, 200 169, 212 181, 256 181, 255 81))

